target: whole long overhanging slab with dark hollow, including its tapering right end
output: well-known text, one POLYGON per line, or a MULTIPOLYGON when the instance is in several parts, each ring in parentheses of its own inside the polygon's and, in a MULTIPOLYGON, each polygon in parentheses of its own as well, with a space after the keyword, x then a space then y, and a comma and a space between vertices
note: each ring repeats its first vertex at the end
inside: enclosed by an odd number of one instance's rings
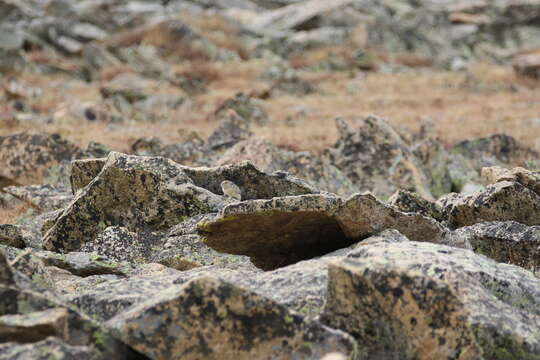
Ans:
POLYGON ((431 242, 444 242, 448 233, 437 221, 400 212, 371 194, 346 201, 323 194, 242 201, 200 222, 198 229, 208 246, 250 256, 265 270, 345 248, 385 229, 431 242))

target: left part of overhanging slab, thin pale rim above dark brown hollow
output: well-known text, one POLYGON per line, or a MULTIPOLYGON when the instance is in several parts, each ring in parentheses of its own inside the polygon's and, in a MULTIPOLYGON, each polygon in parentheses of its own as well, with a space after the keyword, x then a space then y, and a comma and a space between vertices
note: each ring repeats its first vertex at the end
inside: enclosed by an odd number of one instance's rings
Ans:
POLYGON ((256 266, 274 269, 349 246, 332 217, 341 202, 328 195, 243 201, 199 223, 199 232, 217 251, 247 255, 256 266))

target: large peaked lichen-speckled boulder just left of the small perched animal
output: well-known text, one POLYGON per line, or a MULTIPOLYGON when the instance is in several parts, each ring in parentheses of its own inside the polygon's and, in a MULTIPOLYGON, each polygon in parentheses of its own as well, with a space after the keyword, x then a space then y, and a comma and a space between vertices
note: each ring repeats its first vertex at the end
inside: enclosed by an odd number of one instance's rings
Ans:
POLYGON ((44 247, 76 251, 109 226, 165 230, 182 218, 215 212, 226 199, 195 186, 183 167, 160 157, 111 152, 44 237, 44 247))

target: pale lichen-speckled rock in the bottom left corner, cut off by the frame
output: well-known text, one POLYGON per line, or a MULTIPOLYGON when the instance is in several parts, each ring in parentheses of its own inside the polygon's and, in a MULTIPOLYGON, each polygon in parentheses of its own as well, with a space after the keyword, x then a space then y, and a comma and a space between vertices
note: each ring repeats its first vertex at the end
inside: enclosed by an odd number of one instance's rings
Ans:
POLYGON ((68 345, 64 341, 49 337, 31 344, 8 342, 0 344, 0 360, 100 360, 103 355, 89 346, 68 345))

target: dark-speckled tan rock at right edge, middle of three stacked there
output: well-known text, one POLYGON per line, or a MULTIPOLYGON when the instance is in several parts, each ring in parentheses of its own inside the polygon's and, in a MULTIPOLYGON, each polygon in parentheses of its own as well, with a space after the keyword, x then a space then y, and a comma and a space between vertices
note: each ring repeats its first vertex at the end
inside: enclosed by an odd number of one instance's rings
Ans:
POLYGON ((483 221, 540 224, 540 195, 517 182, 502 181, 448 202, 443 210, 454 227, 483 221))

